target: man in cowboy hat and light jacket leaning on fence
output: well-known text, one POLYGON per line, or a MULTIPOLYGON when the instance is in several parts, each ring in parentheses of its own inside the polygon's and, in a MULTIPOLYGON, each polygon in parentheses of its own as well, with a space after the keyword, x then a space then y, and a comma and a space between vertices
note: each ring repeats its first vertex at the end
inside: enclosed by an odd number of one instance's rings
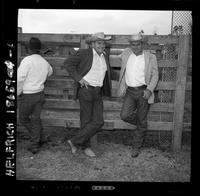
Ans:
POLYGON ((136 126, 132 157, 137 157, 147 129, 149 104, 154 102, 158 66, 156 56, 143 49, 144 37, 141 34, 132 35, 128 41, 130 47, 120 55, 118 95, 124 96, 121 119, 136 126))

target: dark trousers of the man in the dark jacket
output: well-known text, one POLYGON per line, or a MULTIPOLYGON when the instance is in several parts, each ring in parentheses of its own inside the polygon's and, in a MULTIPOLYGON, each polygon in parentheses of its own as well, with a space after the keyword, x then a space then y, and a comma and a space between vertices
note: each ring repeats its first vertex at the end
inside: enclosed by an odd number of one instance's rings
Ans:
POLYGON ((79 89, 78 98, 81 124, 80 130, 71 141, 84 149, 90 147, 90 138, 99 132, 104 124, 101 88, 82 87, 79 89))

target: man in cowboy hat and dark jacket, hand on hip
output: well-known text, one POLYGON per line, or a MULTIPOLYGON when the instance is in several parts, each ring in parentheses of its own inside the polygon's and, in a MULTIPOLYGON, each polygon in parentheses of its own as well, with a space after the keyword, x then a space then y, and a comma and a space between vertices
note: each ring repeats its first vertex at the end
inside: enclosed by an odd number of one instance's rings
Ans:
POLYGON ((79 49, 64 62, 69 75, 75 80, 74 95, 80 102, 80 130, 68 140, 73 154, 78 147, 82 147, 87 156, 95 156, 90 138, 104 124, 102 95, 111 96, 111 75, 115 77, 105 53, 105 42, 108 40, 111 36, 105 36, 103 32, 95 33, 86 40, 90 44, 88 49, 79 49))

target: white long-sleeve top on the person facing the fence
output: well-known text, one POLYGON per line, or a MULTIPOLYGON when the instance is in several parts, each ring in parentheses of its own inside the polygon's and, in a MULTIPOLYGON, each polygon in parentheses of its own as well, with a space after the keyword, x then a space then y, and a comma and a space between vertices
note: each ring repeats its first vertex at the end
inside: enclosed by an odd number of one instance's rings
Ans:
POLYGON ((44 83, 52 73, 52 67, 41 55, 25 57, 17 69, 17 95, 43 91, 44 83))

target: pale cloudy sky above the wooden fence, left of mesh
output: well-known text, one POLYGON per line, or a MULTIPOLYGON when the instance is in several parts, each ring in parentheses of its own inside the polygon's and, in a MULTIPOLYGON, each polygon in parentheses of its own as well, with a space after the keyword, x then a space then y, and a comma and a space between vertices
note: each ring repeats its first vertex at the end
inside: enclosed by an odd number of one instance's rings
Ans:
POLYGON ((167 35, 172 11, 19 9, 18 27, 23 33, 75 33, 167 35))

